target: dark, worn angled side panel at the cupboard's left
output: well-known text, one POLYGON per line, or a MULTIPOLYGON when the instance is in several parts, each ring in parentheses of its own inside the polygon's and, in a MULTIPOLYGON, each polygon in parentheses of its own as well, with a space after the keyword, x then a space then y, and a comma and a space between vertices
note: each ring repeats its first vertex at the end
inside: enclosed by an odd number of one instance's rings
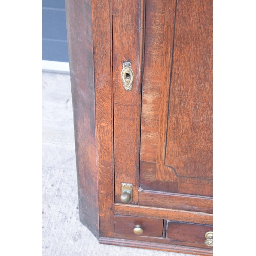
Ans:
POLYGON ((66 0, 80 221, 99 237, 91 1, 66 0))

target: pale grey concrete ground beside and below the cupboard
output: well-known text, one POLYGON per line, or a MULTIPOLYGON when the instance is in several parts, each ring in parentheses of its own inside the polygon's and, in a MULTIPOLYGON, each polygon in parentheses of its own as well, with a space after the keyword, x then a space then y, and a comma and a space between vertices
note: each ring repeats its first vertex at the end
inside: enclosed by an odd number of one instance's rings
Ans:
POLYGON ((44 256, 189 256, 99 244, 79 221, 70 76, 43 73, 44 256))

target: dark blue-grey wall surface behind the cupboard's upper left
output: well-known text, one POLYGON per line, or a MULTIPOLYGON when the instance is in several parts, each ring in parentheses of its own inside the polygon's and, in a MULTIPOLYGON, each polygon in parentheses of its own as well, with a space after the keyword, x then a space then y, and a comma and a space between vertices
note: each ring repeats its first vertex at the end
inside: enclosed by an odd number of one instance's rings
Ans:
POLYGON ((42 59, 69 62, 65 0, 42 0, 42 59))

